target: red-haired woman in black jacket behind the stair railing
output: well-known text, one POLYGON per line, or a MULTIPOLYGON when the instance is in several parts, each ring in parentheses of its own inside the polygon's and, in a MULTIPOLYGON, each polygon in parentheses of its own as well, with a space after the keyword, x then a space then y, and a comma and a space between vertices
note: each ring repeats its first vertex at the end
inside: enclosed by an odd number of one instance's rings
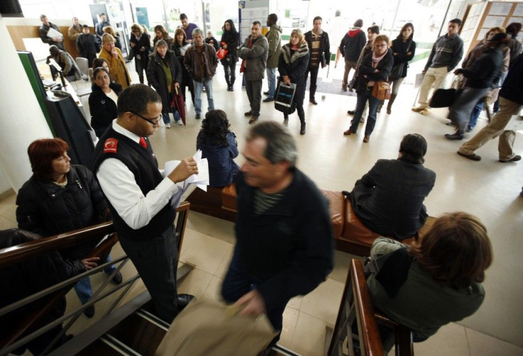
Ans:
MULTIPOLYGON (((111 219, 107 201, 94 175, 87 167, 71 165, 69 145, 60 138, 36 140, 27 150, 33 176, 23 184, 16 198, 18 228, 43 237, 85 228, 111 219)), ((64 260, 82 260, 97 245, 97 240, 60 250, 64 260)), ((109 257, 110 259, 110 257, 109 257)), ((114 266, 104 269, 107 274, 114 266)), ((122 274, 113 282, 122 283, 122 274)), ((85 304, 92 295, 88 277, 75 284, 85 304)), ((95 307, 84 311, 91 318, 95 307)))

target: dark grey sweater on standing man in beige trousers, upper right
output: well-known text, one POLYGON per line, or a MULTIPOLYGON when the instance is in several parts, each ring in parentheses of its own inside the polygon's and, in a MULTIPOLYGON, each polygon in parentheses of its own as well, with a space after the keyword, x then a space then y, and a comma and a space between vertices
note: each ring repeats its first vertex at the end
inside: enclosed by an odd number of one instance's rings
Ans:
POLYGON ((463 57, 463 40, 459 35, 442 35, 432 46, 431 55, 428 56, 425 70, 430 68, 447 67, 451 72, 463 57))

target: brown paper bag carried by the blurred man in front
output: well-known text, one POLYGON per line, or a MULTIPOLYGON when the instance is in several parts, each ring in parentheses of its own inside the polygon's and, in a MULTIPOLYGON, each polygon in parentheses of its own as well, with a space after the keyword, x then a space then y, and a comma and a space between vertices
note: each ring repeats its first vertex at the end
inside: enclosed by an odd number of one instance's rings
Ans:
POLYGON ((195 301, 174 319, 154 355, 257 355, 276 335, 265 315, 254 319, 217 301, 195 301))

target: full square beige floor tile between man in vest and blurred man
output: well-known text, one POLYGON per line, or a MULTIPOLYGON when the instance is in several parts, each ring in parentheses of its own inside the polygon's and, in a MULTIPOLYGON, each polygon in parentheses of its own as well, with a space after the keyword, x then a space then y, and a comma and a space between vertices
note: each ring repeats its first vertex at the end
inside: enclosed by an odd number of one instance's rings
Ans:
POLYGON ((229 248, 230 243, 187 230, 180 261, 189 262, 198 269, 215 274, 229 248))

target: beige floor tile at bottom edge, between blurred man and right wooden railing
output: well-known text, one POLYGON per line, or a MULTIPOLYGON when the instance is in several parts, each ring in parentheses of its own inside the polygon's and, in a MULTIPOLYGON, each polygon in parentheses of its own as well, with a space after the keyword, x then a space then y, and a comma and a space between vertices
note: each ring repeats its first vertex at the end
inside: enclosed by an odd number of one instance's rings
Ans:
POLYGON ((290 349, 303 356, 323 356, 325 321, 300 311, 290 349))

